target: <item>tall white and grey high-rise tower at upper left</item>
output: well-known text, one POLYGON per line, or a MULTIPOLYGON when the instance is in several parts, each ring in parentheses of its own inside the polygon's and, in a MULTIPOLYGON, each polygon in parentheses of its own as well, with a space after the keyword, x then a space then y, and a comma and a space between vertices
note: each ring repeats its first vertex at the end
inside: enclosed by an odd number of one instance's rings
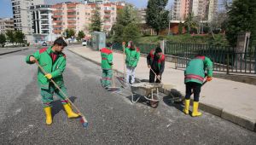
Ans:
POLYGON ((32 43, 32 5, 44 4, 44 0, 11 0, 15 30, 22 31, 27 42, 32 43))

